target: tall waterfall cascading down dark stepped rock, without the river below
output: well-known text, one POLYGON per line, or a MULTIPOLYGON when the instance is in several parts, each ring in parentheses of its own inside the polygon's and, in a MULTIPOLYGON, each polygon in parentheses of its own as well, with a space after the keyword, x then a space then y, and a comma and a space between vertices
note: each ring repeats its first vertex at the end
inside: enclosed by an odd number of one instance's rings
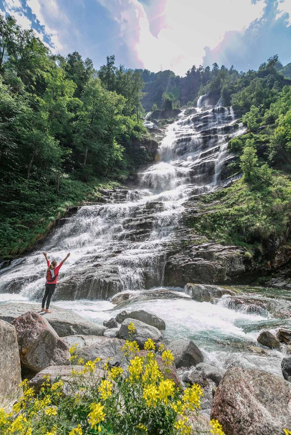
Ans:
POLYGON ((188 198, 218 186, 228 135, 244 131, 227 108, 204 106, 206 97, 198 99, 199 112, 184 110, 166 128, 159 162, 140 171, 136 189, 103 192, 105 202, 80 207, 41 247, 3 268, 0 300, 12 293, 20 300, 40 298, 46 268, 42 251, 57 261, 71 252, 61 269, 57 299, 104 299, 160 286, 188 198))

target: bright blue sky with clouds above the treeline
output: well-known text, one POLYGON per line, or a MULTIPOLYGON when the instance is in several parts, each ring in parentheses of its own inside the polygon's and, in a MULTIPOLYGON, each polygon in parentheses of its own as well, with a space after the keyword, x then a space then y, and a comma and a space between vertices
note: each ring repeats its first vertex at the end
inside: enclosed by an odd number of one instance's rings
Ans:
POLYGON ((193 64, 291 62, 291 0, 0 0, 53 53, 181 76, 193 64))

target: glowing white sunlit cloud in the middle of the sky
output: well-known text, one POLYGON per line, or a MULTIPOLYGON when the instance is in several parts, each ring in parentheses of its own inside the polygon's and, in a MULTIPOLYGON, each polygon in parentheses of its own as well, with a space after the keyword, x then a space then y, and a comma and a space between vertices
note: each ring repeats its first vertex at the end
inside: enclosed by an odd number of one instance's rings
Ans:
POLYGON ((265 6, 263 0, 256 4, 251 0, 164 0, 164 25, 154 37, 139 0, 97 1, 120 24, 120 37, 144 67, 172 69, 180 75, 192 64, 202 64, 206 45, 214 48, 226 31, 245 29, 261 17, 265 6))

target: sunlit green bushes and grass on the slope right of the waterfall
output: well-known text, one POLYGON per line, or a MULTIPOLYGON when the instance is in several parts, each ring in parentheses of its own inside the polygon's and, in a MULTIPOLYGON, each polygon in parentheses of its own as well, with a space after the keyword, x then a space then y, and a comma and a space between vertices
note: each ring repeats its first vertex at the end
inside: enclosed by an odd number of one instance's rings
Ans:
POLYGON ((286 244, 290 234, 291 87, 265 88, 260 98, 250 86, 231 95, 238 108, 257 104, 242 117, 248 133, 229 141, 237 157, 228 171, 243 177, 203 195, 188 224, 210 239, 264 251, 270 242, 286 244))

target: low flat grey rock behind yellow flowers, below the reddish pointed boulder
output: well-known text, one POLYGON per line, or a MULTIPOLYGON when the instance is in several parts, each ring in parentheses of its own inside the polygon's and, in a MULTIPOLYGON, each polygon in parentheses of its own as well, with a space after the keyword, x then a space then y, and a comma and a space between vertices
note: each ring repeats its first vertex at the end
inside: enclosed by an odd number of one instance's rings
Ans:
MULTIPOLYGON (((75 365, 74 370, 81 371, 82 370, 81 365, 75 365)), ((64 382, 63 385, 63 395, 66 396, 70 388, 70 379, 72 378, 72 367, 70 365, 53 365, 50 367, 46 367, 43 370, 41 370, 39 373, 37 373, 32 379, 30 379, 28 386, 33 387, 36 394, 40 392, 41 385, 43 384, 43 376, 49 375, 50 382, 53 384, 55 381, 59 380, 60 378, 64 382)), ((76 377, 78 375, 74 375, 76 377)), ((82 376, 88 376, 91 375, 85 374, 82 376)), ((104 376, 104 371, 101 369, 96 368, 94 372, 94 376, 102 378, 104 376)))

